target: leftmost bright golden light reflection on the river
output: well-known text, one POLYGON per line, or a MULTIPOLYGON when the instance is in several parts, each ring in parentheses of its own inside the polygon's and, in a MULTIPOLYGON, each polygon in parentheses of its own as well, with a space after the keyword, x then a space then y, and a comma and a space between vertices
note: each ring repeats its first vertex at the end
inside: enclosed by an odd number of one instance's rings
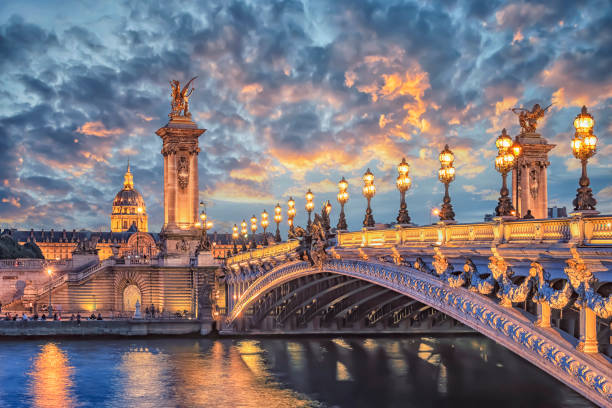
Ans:
POLYGON ((40 408, 73 407, 72 374, 68 357, 55 343, 41 347, 29 375, 29 393, 33 406, 40 408))

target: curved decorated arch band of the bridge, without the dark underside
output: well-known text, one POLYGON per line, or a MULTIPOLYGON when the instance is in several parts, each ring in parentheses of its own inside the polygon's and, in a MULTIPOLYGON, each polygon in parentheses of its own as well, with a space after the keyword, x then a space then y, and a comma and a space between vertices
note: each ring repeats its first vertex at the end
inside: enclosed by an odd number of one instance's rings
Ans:
POLYGON ((322 268, 294 261, 256 279, 237 299, 226 324, 232 325, 258 297, 272 288, 311 274, 327 272, 361 279, 426 304, 515 352, 535 366, 606 406, 612 403, 610 363, 602 356, 581 353, 576 342, 533 319, 470 290, 450 287, 432 275, 408 266, 359 260, 332 260, 322 268))

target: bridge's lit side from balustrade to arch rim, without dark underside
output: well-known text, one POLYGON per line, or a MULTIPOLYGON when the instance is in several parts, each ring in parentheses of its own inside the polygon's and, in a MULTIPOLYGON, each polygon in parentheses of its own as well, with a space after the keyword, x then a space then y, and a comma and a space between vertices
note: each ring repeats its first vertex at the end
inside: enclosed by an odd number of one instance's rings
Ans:
POLYGON ((299 261, 297 245, 226 260, 226 325, 273 287, 343 274, 429 304, 612 404, 611 347, 600 354, 598 344, 598 331, 609 341, 611 328, 612 216, 343 232, 321 267, 299 261), (579 330, 561 330, 564 310, 579 330))

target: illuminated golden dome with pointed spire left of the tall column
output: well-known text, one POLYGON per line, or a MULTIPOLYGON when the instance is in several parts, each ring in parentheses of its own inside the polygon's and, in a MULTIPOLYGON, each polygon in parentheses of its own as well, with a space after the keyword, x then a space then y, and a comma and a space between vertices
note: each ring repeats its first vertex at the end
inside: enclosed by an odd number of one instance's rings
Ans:
POLYGON ((130 228, 140 232, 147 232, 149 224, 147 221, 147 207, 142 195, 134 188, 134 177, 128 162, 128 168, 123 180, 123 189, 117 193, 113 200, 111 232, 124 232, 130 228))

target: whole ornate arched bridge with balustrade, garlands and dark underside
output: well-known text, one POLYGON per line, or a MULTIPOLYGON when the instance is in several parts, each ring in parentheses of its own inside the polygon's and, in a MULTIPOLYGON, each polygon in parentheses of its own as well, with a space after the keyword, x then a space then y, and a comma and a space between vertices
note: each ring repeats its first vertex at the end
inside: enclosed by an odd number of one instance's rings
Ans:
POLYGON ((612 403, 612 216, 339 232, 314 264, 299 245, 227 259, 222 332, 432 327, 437 311, 612 403))

